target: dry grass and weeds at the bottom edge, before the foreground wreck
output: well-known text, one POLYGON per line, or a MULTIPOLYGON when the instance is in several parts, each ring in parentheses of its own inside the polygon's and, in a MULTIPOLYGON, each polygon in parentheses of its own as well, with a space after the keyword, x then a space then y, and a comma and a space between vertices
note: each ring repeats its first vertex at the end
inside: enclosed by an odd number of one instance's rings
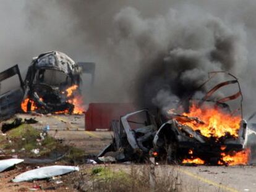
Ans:
POLYGON ((74 182, 79 191, 182 191, 179 175, 166 167, 154 171, 152 165, 131 165, 126 169, 108 165, 78 174, 74 182))

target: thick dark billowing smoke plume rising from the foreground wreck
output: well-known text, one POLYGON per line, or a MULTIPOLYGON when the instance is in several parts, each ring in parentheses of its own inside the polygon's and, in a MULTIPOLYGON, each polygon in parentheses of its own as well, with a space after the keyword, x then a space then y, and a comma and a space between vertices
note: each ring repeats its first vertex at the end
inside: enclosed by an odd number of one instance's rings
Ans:
POLYGON ((243 28, 234 26, 233 31, 195 7, 170 9, 150 19, 127 7, 116 15, 115 25, 117 44, 127 44, 139 54, 135 93, 144 107, 168 107, 170 98, 182 99, 198 91, 208 72, 239 73, 239 65, 247 64, 243 28), (197 14, 184 14, 190 9, 197 14))

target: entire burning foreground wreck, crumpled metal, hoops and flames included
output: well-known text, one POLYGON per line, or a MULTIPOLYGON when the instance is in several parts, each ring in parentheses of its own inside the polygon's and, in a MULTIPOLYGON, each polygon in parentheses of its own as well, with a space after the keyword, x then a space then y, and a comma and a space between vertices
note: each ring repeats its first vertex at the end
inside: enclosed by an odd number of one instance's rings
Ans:
POLYGON ((175 109, 160 115, 143 109, 113 120, 113 143, 98 157, 113 151, 119 162, 143 162, 153 156, 157 161, 168 163, 246 164, 249 159, 249 149, 245 146, 247 122, 242 117, 239 81, 230 73, 214 72, 202 86, 220 73, 231 80, 213 86, 202 99, 187 97, 179 101, 175 109), (229 85, 237 85, 238 92, 211 99, 216 91, 229 85), (239 98, 239 107, 231 111, 226 102, 239 98))

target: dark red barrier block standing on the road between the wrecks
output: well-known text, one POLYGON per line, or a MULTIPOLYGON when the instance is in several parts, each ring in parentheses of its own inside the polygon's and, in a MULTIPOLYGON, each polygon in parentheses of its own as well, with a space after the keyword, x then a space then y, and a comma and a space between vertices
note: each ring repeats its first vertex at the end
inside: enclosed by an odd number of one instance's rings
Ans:
POLYGON ((85 113, 85 130, 110 130, 112 120, 133 111, 130 103, 90 103, 85 113))

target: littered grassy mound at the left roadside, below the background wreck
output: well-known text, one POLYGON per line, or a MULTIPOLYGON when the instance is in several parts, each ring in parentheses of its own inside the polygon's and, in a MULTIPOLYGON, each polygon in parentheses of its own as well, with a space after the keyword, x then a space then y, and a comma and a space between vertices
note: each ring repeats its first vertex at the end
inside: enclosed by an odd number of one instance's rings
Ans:
POLYGON ((0 134, 0 154, 7 156, 17 155, 18 157, 40 158, 64 156, 64 161, 80 162, 85 156, 85 151, 72 146, 64 146, 61 141, 49 135, 43 135, 41 130, 31 125, 22 124, 0 134))

